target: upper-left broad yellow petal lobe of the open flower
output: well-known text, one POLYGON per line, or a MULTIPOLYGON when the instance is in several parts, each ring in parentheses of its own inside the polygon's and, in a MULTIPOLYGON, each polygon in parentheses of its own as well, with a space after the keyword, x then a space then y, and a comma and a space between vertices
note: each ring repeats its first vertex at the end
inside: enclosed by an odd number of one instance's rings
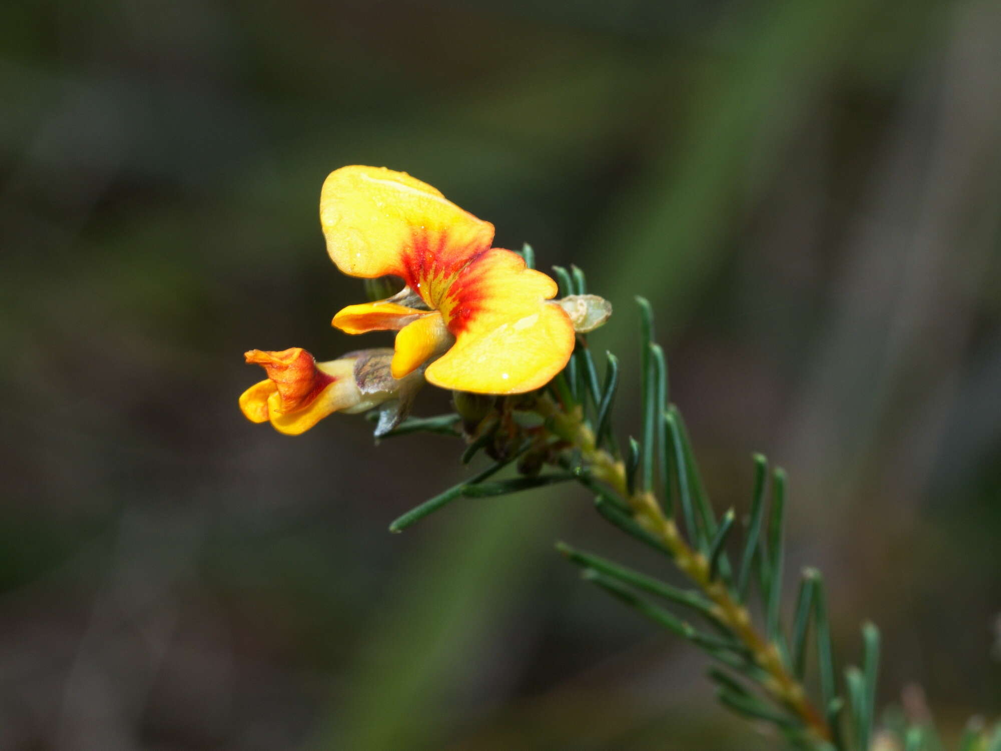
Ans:
POLYGON ((384 167, 353 165, 331 172, 323 182, 319 216, 327 252, 341 271, 401 276, 428 302, 429 284, 454 275, 493 239, 489 222, 430 185, 384 167))

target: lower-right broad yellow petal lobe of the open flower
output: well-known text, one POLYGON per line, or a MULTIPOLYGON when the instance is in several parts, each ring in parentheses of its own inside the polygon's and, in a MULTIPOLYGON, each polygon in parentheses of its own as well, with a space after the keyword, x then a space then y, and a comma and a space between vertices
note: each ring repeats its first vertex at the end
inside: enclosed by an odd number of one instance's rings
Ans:
POLYGON ((442 300, 456 340, 427 366, 427 381, 477 394, 521 394, 548 384, 567 365, 575 341, 570 317, 546 301, 557 290, 553 279, 526 268, 511 250, 479 255, 442 300))

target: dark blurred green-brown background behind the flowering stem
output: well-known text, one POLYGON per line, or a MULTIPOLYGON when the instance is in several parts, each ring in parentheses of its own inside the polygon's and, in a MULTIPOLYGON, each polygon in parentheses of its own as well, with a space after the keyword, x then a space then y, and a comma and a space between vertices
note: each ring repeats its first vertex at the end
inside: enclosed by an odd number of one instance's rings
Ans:
POLYGON ((996 0, 15 1, 0 95, 0 748, 776 747, 554 552, 668 574, 585 493, 390 536, 459 447, 240 416, 245 349, 387 341, 328 324, 350 163, 582 265, 634 377, 648 295, 718 507, 789 471, 840 657, 871 618, 883 699, 997 713, 996 0))

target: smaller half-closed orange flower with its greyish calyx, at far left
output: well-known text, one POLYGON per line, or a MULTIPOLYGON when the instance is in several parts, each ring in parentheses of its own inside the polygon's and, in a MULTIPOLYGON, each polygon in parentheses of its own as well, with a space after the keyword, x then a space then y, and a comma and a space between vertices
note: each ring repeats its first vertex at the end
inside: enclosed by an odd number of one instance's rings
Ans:
POLYGON ((280 433, 297 436, 335 412, 352 415, 383 406, 375 435, 394 427, 405 416, 419 373, 403 380, 389 374, 391 349, 350 352, 328 362, 317 362, 305 349, 281 351, 251 349, 247 362, 261 365, 267 378, 240 396, 240 410, 252 423, 267 423, 280 433))

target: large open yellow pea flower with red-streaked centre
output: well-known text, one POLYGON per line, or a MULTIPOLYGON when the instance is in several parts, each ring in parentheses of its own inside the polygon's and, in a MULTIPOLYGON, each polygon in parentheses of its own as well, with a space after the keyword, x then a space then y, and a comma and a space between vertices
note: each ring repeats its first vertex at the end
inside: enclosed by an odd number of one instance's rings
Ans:
POLYGON ((333 318, 347 333, 398 330, 394 378, 440 355, 424 371, 434 386, 521 394, 545 386, 567 364, 574 326, 548 301, 556 282, 527 268, 518 253, 490 247, 489 222, 384 167, 331 172, 319 208, 327 252, 341 271, 392 274, 408 287, 390 299, 348 305, 333 318))

